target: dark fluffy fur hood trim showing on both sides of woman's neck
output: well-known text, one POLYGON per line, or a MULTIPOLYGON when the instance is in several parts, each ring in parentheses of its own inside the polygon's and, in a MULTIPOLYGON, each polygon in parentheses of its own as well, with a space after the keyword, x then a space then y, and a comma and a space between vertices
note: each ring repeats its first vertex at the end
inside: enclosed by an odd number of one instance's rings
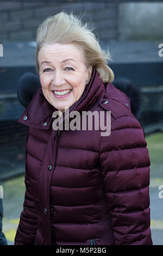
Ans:
MULTIPOLYGON (((129 99, 131 105, 131 112, 135 117, 139 115, 140 106, 142 102, 141 89, 134 86, 133 82, 127 78, 118 77, 112 84, 119 90, 122 90, 129 99)), ((32 100, 37 89, 41 88, 39 75, 27 72, 23 74, 18 80, 17 97, 20 103, 27 107, 32 100)))

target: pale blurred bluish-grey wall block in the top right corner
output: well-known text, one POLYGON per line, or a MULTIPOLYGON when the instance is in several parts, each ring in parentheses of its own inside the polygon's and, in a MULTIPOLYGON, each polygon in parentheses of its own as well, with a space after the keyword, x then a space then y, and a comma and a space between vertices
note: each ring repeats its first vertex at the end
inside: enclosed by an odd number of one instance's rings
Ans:
POLYGON ((163 40, 163 3, 119 4, 118 39, 163 40))

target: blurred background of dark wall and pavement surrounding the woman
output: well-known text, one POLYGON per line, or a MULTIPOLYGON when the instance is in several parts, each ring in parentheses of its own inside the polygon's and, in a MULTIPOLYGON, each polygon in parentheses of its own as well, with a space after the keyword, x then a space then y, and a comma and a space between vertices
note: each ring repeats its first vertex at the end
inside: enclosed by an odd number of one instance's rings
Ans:
POLYGON ((125 77, 142 89, 137 118, 151 159, 151 230, 154 245, 163 245, 163 2, 162 1, 1 1, 0 2, 0 180, 3 185, 3 232, 14 244, 24 202, 28 127, 17 123, 24 108, 17 81, 35 71, 36 29, 47 16, 73 11, 95 25, 115 78, 125 77), (162 44, 162 45, 161 45, 162 44), (161 51, 162 48, 162 51, 161 51))

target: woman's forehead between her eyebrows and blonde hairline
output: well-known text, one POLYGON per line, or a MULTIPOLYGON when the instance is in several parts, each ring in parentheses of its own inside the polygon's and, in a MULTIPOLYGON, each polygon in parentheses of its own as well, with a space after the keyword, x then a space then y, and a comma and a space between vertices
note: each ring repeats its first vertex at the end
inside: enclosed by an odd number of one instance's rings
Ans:
POLYGON ((71 44, 47 44, 44 45, 39 52, 39 59, 46 57, 64 58, 73 57, 73 59, 79 60, 83 57, 82 48, 71 43, 71 44))

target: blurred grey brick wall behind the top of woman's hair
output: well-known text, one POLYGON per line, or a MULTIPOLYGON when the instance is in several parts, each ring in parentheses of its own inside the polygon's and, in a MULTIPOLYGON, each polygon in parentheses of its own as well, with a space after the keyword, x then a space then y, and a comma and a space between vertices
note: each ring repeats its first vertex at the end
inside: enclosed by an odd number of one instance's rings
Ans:
POLYGON ((92 21, 102 40, 117 39, 117 1, 1 1, 0 42, 35 40, 36 29, 47 16, 73 10, 92 21))

